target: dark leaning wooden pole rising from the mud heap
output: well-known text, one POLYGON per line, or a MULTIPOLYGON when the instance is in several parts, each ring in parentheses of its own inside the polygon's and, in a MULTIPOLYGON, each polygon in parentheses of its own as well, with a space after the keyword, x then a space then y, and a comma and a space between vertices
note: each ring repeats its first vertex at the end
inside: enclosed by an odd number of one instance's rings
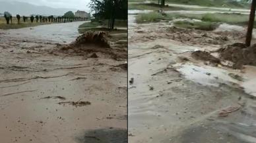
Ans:
POLYGON ((253 32, 255 7, 256 7, 256 0, 253 0, 251 2, 251 12, 250 12, 250 16, 249 16, 249 23, 248 23, 248 27, 247 27, 247 34, 246 34, 246 40, 245 40, 245 45, 247 47, 249 47, 251 45, 251 34, 253 32))

